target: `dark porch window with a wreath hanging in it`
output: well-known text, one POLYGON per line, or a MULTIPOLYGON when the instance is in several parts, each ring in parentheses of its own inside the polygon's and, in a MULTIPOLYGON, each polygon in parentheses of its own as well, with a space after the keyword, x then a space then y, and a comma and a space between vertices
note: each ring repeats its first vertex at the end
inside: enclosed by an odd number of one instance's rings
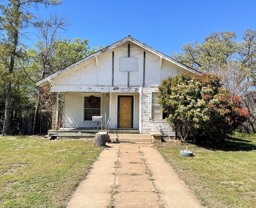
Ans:
POLYGON ((100 97, 84 97, 84 120, 91 121, 92 116, 100 116, 100 97))

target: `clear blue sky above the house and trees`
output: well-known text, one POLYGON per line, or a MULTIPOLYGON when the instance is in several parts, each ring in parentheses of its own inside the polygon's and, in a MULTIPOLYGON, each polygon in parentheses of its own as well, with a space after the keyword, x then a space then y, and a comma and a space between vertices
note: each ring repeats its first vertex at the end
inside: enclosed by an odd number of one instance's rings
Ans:
MULTIPOLYGON (((170 55, 182 45, 216 31, 234 31, 241 41, 247 29, 256 29, 255 0, 62 0, 56 7, 35 12, 65 14, 70 26, 63 37, 89 40, 104 47, 131 35, 170 55)), ((27 41, 33 45, 33 37, 27 41)))

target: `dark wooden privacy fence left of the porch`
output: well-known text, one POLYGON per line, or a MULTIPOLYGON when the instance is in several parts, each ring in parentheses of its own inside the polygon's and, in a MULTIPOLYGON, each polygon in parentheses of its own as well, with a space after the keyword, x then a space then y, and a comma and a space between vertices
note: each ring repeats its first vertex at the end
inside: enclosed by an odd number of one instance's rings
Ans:
MULTIPOLYGON (((19 133, 22 135, 31 135, 33 130, 35 112, 27 112, 26 116, 20 118, 19 133)), ((52 112, 38 112, 36 118, 36 135, 46 135, 52 127, 52 112)))

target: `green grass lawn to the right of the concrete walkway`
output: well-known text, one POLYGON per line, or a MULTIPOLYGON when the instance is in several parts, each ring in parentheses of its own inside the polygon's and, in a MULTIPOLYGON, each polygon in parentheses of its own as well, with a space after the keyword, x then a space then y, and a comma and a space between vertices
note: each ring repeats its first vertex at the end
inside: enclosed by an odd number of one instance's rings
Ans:
POLYGON ((206 207, 256 207, 255 137, 232 136, 216 148, 176 140, 157 148, 206 207), (194 157, 180 156, 186 146, 194 157))

